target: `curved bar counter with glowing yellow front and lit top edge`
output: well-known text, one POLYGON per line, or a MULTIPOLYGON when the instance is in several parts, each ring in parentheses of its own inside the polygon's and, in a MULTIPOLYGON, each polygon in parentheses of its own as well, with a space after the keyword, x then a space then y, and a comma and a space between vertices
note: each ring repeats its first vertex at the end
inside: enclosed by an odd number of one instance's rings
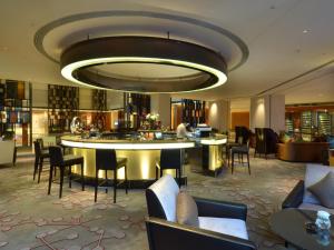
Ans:
MULTIPOLYGON (((73 154, 85 158, 85 176, 88 178, 95 178, 95 150, 115 149, 118 158, 128 159, 128 179, 130 181, 146 181, 156 178, 156 161, 160 157, 161 149, 195 147, 195 142, 189 140, 81 139, 80 136, 63 136, 61 144, 72 148, 73 154)), ((73 168, 75 173, 79 174, 79 171, 80 168, 73 168)), ((175 171, 170 171, 170 173, 175 174, 175 171)), ((99 177, 105 178, 105 172, 100 171, 99 177)), ((118 170, 118 177, 124 179, 124 169, 118 170)))

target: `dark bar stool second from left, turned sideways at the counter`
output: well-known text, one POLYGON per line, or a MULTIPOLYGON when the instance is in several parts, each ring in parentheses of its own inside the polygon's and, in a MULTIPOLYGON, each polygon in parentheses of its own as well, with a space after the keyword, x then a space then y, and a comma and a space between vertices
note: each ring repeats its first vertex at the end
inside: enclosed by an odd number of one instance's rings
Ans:
POLYGON ((60 188, 59 188, 59 198, 62 194, 62 182, 63 182, 63 173, 65 169, 69 167, 69 188, 71 188, 72 183, 72 171, 71 168, 75 164, 80 164, 81 167, 81 188, 85 190, 85 178, 84 178, 84 157, 78 156, 62 156, 62 150, 59 146, 49 147, 50 153, 50 176, 49 176, 49 189, 48 194, 51 192, 51 182, 52 182, 52 173, 55 168, 59 168, 60 170, 60 188))

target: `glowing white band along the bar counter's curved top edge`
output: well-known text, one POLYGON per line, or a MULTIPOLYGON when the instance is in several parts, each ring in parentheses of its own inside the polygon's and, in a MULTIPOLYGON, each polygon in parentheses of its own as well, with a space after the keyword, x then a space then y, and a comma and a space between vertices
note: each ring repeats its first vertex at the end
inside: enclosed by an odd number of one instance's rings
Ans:
POLYGON ((82 142, 61 139, 61 144, 81 149, 118 149, 118 150, 155 150, 155 149, 186 149, 194 148, 195 142, 82 142))

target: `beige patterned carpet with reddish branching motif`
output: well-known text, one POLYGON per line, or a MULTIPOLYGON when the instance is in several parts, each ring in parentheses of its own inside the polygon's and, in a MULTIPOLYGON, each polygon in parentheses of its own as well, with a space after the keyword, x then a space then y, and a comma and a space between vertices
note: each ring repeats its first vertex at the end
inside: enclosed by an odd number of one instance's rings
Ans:
MULTIPOLYGON (((246 203, 250 240, 263 250, 285 249, 267 221, 303 178, 304 164, 252 158, 250 166, 250 177, 242 166, 233 176, 227 169, 217 178, 189 173, 187 190, 197 197, 246 203)), ((101 190, 95 203, 92 188, 82 192, 73 184, 63 187, 60 200, 57 184, 47 196, 47 176, 40 184, 32 181, 31 159, 19 159, 16 167, 0 166, 0 250, 148 249, 144 190, 127 196, 119 190, 117 204, 111 191, 101 190)))

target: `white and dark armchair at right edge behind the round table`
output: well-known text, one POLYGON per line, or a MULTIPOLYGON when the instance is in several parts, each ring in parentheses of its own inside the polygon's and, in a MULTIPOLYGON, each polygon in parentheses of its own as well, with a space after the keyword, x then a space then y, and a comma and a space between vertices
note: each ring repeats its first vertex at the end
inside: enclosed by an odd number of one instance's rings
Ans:
POLYGON ((299 180, 282 203, 282 209, 298 208, 305 210, 324 210, 334 214, 334 209, 325 208, 320 200, 307 190, 323 179, 334 168, 322 164, 307 164, 304 180, 299 180))

